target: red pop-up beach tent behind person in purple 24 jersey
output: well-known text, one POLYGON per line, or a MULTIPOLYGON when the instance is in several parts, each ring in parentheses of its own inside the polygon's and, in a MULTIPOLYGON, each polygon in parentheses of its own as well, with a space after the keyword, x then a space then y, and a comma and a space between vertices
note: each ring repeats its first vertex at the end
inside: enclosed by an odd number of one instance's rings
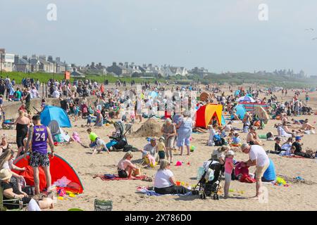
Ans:
MULTIPOLYGON (((29 166, 29 160, 30 155, 27 155, 27 158, 25 159, 24 156, 20 156, 17 158, 13 163, 17 167, 20 168, 27 168, 25 172, 18 172, 14 171, 17 174, 23 175, 25 177, 25 181, 27 185, 34 186, 34 179, 32 177, 33 175, 33 169, 29 166)), ((51 172, 51 184, 53 185, 55 181, 58 179, 63 178, 63 176, 66 176, 68 180, 70 180, 70 183, 67 184, 65 188, 66 191, 72 191, 74 193, 82 193, 84 191, 84 187, 82 186, 82 182, 80 181, 80 178, 78 177, 77 173, 73 169, 73 167, 70 166, 66 160, 61 158, 59 155, 54 155, 54 158, 51 158, 49 156, 49 170, 51 172)), ((40 177, 40 186, 39 188, 41 191, 46 188, 46 181, 45 181, 45 175, 44 170, 39 167, 39 177, 40 177)))

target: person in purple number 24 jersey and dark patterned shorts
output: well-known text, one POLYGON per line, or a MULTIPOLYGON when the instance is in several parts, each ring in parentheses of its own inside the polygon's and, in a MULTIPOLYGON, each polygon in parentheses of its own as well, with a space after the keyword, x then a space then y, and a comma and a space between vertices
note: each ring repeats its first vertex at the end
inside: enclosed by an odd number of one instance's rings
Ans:
POLYGON ((41 124, 39 115, 32 117, 34 126, 28 131, 27 143, 25 146, 24 157, 27 156, 27 151, 31 146, 30 166, 34 172, 35 193, 39 194, 39 167, 43 167, 46 176, 47 191, 51 188, 51 173, 49 172, 49 155, 47 152, 47 141, 51 148, 51 157, 54 158, 54 142, 51 137, 49 127, 41 124))

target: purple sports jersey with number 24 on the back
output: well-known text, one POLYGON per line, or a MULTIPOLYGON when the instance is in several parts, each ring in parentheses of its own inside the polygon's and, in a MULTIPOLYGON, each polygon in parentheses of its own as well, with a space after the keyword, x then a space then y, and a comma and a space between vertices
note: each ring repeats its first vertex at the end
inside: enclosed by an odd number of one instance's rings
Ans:
POLYGON ((34 126, 32 137, 32 151, 47 154, 47 128, 44 125, 34 126))

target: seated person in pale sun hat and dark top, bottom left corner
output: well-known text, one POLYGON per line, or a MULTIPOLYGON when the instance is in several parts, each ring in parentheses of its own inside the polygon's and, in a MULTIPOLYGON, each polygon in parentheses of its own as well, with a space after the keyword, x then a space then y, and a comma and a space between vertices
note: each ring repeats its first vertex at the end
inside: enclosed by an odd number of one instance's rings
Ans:
MULTIPOLYGON (((12 172, 8 169, 0 170, 0 182, 1 188, 4 191, 4 200, 13 200, 11 202, 4 202, 4 207, 8 210, 18 209, 20 207, 19 200, 23 202, 23 205, 29 204, 32 198, 30 198, 27 193, 23 191, 19 191, 18 187, 15 184, 11 183, 12 172)), ((37 205, 40 209, 49 209, 53 208, 53 200, 52 198, 42 198, 42 200, 36 201, 37 205)))

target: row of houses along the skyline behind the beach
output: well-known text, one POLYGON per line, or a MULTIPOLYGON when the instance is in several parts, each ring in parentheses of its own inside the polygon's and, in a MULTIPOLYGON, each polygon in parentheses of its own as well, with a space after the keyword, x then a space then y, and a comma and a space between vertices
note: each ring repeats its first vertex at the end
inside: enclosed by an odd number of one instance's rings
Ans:
POLYGON ((1 71, 4 72, 48 72, 48 73, 63 73, 70 71, 72 76, 85 75, 106 75, 131 77, 134 74, 139 74, 145 77, 161 75, 162 77, 173 77, 176 75, 187 76, 189 74, 197 74, 201 77, 208 74, 208 70, 204 68, 194 68, 187 70, 185 67, 175 67, 173 65, 153 65, 143 64, 136 65, 135 63, 116 63, 106 67, 101 63, 92 62, 90 65, 77 66, 62 62, 60 57, 55 59, 52 56, 18 56, 6 53, 5 49, 0 49, 1 53, 1 71))

